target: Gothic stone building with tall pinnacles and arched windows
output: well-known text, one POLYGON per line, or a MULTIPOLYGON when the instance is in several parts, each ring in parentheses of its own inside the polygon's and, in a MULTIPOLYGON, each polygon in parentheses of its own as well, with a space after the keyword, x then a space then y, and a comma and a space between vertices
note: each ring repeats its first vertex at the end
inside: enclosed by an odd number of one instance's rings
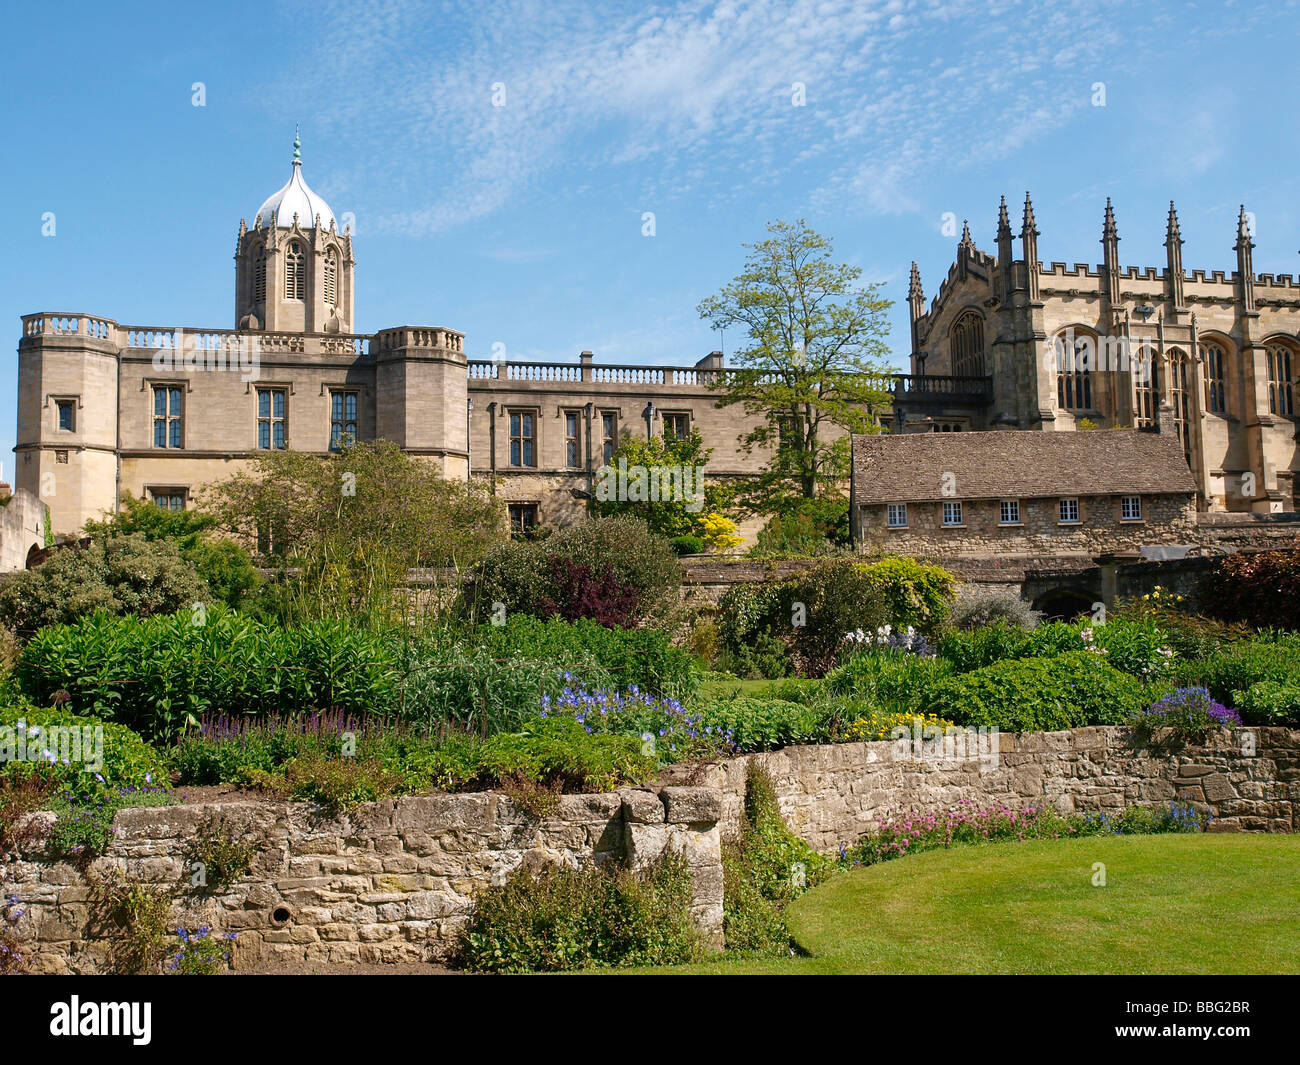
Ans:
POLYGON ((965 228, 928 309, 913 264, 894 430, 1149 428, 1167 403, 1202 508, 1294 511, 1300 282, 1254 273, 1253 230, 1243 207, 1236 269, 1187 270, 1170 203, 1164 268, 1122 267, 1108 200, 1101 264, 1067 267, 1028 195, 1015 254, 1004 199, 996 255, 965 228))

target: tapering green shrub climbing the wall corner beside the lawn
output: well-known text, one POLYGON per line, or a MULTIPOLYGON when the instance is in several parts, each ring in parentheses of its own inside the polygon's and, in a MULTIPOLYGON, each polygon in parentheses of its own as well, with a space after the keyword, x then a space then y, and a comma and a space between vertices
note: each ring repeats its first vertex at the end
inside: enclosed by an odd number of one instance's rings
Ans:
POLYGON ((785 954, 785 908, 823 880, 829 862, 781 819, 776 789, 750 762, 740 832, 723 841, 723 935, 728 951, 785 954))

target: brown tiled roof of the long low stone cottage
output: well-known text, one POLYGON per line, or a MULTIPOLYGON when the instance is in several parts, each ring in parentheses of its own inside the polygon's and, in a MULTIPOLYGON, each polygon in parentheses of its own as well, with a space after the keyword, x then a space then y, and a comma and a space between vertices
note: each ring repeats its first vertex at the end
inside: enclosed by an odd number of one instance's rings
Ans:
POLYGON ((853 489, 858 503, 906 503, 1195 493, 1196 481, 1173 433, 1004 429, 855 436, 853 489))

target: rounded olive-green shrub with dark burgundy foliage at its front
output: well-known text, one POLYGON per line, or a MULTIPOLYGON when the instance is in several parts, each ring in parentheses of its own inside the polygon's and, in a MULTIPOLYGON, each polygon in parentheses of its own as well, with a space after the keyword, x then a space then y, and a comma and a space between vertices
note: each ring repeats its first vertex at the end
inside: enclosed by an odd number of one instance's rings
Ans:
POLYGON ((502 603, 507 618, 559 615, 634 625, 672 616, 680 589, 681 563, 667 540, 637 518, 594 518, 545 541, 499 545, 474 568, 460 609, 486 619, 502 603), (577 576, 556 586, 556 572, 577 576))

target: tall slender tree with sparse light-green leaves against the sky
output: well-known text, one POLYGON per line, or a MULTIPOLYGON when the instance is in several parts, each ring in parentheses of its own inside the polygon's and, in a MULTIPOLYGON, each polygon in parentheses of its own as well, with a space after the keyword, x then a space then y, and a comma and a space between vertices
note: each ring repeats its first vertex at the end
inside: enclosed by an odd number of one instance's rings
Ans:
POLYGON ((745 269, 698 306, 715 329, 741 326, 736 368, 719 375, 718 406, 741 403, 760 423, 741 436, 746 453, 770 451, 744 486, 749 510, 788 507, 836 489, 849 473, 846 433, 881 432, 888 408, 884 359, 892 302, 862 270, 832 259, 831 241, 798 222, 776 221, 745 244, 745 269))

